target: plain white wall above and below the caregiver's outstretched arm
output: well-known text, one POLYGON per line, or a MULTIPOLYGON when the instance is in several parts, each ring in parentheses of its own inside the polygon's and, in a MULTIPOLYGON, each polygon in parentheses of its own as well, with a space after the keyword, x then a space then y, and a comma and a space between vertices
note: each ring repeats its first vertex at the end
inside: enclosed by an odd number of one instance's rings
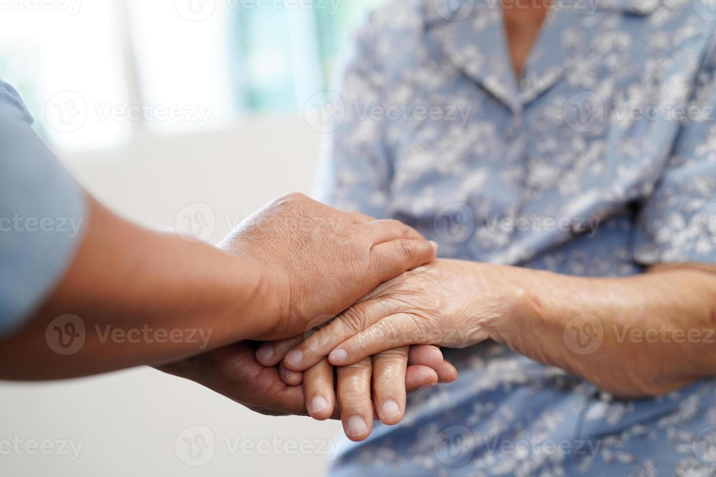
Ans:
MULTIPOLYGON (((319 139, 303 119, 254 118, 202 136, 147 137, 120 151, 59 155, 90 192, 143 225, 173 227, 186 205, 210 205, 216 242, 231 226, 224 217, 233 222, 279 195, 310 192, 319 139)), ((291 443, 328 441, 340 432, 335 422, 258 415, 147 368, 62 383, 4 383, 0 403, 0 441, 83 442, 76 461, 0 454, 4 476, 314 477, 323 473, 327 456, 287 455, 291 443), (179 460, 174 443, 181 431, 198 425, 216 436, 216 455, 193 468, 179 460), (225 438, 232 445, 236 438, 273 442, 279 453, 248 455, 240 447, 231 455, 225 438)))

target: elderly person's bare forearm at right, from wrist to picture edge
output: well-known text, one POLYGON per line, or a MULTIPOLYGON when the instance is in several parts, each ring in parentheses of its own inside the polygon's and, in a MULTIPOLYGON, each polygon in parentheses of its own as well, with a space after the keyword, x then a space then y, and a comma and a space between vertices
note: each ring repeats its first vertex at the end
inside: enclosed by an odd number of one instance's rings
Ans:
POLYGON ((588 278, 503 267, 500 275, 523 290, 522 306, 490 334, 611 393, 664 393, 716 375, 712 270, 682 265, 588 278))

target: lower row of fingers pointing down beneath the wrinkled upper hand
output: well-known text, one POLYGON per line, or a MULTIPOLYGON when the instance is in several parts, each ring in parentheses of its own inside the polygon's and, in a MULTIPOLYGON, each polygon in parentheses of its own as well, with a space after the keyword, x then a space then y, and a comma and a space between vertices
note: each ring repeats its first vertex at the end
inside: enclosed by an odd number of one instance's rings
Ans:
MULTIPOLYGON (((257 360, 262 365, 274 366, 302 340, 299 336, 263 343, 256 351, 257 360)), ((437 383, 452 383, 458 378, 453 365, 444 361, 440 350, 430 345, 411 346, 410 352, 403 346, 336 368, 335 389, 334 367, 326 358, 305 373, 287 370, 283 363, 279 370, 285 383, 303 382, 309 415, 319 421, 340 415, 344 432, 352 441, 366 439, 374 419, 388 425, 402 421, 406 393, 437 383)))

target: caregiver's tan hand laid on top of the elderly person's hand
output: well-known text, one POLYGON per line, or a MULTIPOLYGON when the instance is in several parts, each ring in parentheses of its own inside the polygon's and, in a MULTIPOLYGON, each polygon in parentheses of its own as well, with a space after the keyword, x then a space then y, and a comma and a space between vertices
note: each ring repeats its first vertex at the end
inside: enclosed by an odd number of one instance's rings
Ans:
POLYGON ((379 283, 430 262, 437 245, 396 220, 344 213, 292 194, 248 217, 218 247, 258 260, 263 307, 257 340, 304 333, 379 283))

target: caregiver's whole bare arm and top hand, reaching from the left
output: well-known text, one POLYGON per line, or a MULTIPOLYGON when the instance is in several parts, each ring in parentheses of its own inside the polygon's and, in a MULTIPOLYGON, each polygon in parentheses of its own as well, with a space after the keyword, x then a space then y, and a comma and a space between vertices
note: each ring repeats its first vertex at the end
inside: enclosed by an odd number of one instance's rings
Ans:
POLYGON ((435 256, 434 245, 400 222, 303 195, 267 205, 218 248, 142 229, 89 195, 87 206, 64 275, 34 315, 2 337, 1 378, 72 378, 288 338, 435 256), (145 329, 172 339, 135 339, 145 329), (110 331, 131 338, 107 340, 110 331), (64 353, 65 343, 79 348, 64 353))

